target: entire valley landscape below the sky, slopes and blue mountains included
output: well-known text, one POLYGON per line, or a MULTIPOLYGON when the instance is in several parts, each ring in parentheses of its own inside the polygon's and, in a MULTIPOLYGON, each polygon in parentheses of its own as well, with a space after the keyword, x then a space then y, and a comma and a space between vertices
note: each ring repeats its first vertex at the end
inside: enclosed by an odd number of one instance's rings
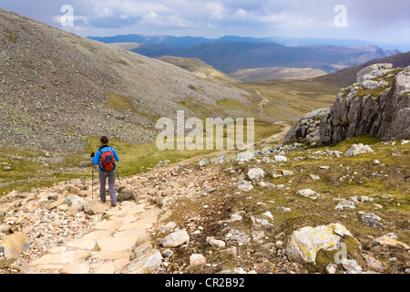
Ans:
POLYGON ((97 41, 2 8, 0 36, 0 274, 410 273, 409 53, 97 41), (159 151, 181 111, 254 119, 255 150, 159 151))

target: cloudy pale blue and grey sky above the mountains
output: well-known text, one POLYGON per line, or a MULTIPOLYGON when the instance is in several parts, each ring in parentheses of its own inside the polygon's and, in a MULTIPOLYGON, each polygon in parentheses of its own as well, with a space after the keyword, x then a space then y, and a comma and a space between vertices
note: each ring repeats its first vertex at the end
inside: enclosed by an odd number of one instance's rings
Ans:
POLYGON ((80 36, 302 36, 410 43, 408 0, 0 0, 0 7, 80 36), (62 12, 64 5, 72 7, 73 26, 67 26, 70 10, 62 12))

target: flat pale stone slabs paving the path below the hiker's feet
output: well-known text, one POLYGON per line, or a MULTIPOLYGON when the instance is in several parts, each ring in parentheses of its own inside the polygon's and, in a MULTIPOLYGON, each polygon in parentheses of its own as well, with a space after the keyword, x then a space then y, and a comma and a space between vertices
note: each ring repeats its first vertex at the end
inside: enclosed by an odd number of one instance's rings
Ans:
POLYGON ((97 217, 109 218, 96 223, 95 231, 53 247, 30 263, 36 274, 115 274, 128 265, 132 248, 149 242, 148 230, 158 222, 160 210, 149 203, 124 201, 111 207, 87 198, 97 217))

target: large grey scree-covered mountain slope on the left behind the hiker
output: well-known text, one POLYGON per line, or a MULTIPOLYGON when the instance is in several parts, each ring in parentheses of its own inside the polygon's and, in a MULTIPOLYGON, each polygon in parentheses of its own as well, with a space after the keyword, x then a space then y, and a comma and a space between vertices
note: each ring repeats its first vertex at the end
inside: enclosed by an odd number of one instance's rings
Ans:
MULTIPOLYGON (((250 103, 245 91, 0 9, 0 146, 81 151, 85 137, 148 142, 181 101, 233 116, 217 101, 250 103)), ((195 112, 196 116, 200 112, 195 112)))

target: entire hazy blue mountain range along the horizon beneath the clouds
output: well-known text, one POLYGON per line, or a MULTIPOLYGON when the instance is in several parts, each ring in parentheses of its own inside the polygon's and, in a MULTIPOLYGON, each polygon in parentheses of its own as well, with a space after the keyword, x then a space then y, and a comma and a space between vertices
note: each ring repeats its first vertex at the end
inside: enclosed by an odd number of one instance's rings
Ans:
MULTIPOLYGON (((238 71, 242 73, 242 70, 254 68, 272 68, 273 72, 277 68, 313 68, 333 73, 341 68, 357 66, 374 58, 390 57, 400 53, 398 50, 386 50, 360 41, 356 41, 354 45, 366 46, 285 47, 272 43, 272 38, 240 36, 224 36, 218 39, 138 35, 90 38, 104 43, 121 44, 118 47, 127 48, 146 57, 199 58, 213 68, 234 77, 238 76, 238 71)), ((278 40, 281 41, 281 39, 278 40)), ((291 41, 292 39, 287 40, 291 41)), ((297 44, 308 43, 308 40, 300 39, 297 44)), ((312 42, 313 40, 311 40, 312 42)), ((336 43, 336 40, 329 42, 336 43)), ((339 41, 339 44, 345 45, 352 42, 339 41)), ((293 42, 293 44, 296 43, 293 42)), ((249 77, 241 80, 249 80, 249 77)))

